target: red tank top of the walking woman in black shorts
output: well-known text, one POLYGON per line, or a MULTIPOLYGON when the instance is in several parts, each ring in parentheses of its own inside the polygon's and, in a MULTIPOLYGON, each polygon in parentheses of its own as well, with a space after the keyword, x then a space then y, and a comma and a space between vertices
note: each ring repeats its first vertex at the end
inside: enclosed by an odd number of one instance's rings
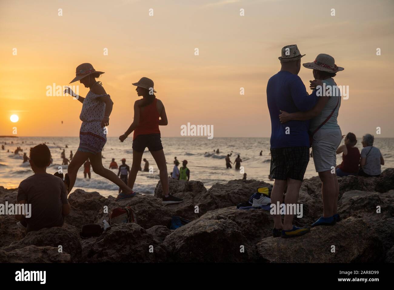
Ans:
POLYGON ((157 99, 154 98, 152 103, 143 107, 143 110, 141 110, 139 114, 138 126, 136 129, 134 129, 133 140, 137 138, 138 135, 160 134, 160 114, 157 112, 156 103, 157 99))

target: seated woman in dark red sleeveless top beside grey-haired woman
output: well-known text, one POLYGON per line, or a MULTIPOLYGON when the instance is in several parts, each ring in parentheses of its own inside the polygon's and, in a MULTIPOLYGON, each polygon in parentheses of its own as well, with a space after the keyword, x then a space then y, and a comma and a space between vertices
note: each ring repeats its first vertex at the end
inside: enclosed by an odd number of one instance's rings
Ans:
POLYGON ((345 144, 338 147, 336 154, 342 153, 342 163, 336 167, 336 176, 343 177, 357 175, 360 164, 360 151, 355 147, 357 144, 356 135, 348 133, 345 137, 345 144))

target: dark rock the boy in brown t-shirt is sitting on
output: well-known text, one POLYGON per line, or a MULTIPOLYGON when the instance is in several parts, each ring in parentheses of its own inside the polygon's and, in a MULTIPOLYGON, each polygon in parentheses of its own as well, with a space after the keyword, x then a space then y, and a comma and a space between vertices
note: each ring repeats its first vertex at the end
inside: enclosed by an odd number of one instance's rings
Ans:
POLYGON ((79 241, 79 232, 76 227, 65 224, 63 227, 43 228, 39 231, 28 232, 23 239, 14 241, 8 247, 1 249, 10 252, 15 249, 22 249, 26 246, 35 245, 38 247, 63 247, 63 253, 71 256, 72 262, 78 262, 81 258, 81 243, 79 241))

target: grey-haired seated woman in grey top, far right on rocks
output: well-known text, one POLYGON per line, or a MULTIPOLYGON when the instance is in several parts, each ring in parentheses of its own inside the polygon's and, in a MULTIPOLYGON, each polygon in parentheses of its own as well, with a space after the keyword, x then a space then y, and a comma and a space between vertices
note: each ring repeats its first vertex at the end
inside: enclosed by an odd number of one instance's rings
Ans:
POLYGON ((370 177, 379 176, 382 173, 381 165, 385 165, 382 153, 374 147, 374 136, 365 134, 362 137, 362 150, 360 161, 360 176, 370 177))

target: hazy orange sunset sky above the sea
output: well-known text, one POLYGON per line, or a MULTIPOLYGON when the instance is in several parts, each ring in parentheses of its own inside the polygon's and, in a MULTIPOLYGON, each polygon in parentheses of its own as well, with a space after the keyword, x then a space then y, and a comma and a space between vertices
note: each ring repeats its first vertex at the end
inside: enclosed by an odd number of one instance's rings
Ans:
MULTIPOLYGON (((163 137, 180 137, 187 123, 213 125, 214 137, 269 137, 266 85, 281 48, 297 44, 301 62, 326 53, 345 68, 335 77, 349 86, 342 133, 394 137, 393 13, 390 0, 0 0, 0 135, 17 127, 17 136, 78 136, 82 104, 46 96, 46 87, 68 85, 89 62, 105 72, 99 80, 114 102, 109 137, 132 123, 141 77, 164 103, 163 137)), ((309 91, 312 70, 299 76, 309 91)))

